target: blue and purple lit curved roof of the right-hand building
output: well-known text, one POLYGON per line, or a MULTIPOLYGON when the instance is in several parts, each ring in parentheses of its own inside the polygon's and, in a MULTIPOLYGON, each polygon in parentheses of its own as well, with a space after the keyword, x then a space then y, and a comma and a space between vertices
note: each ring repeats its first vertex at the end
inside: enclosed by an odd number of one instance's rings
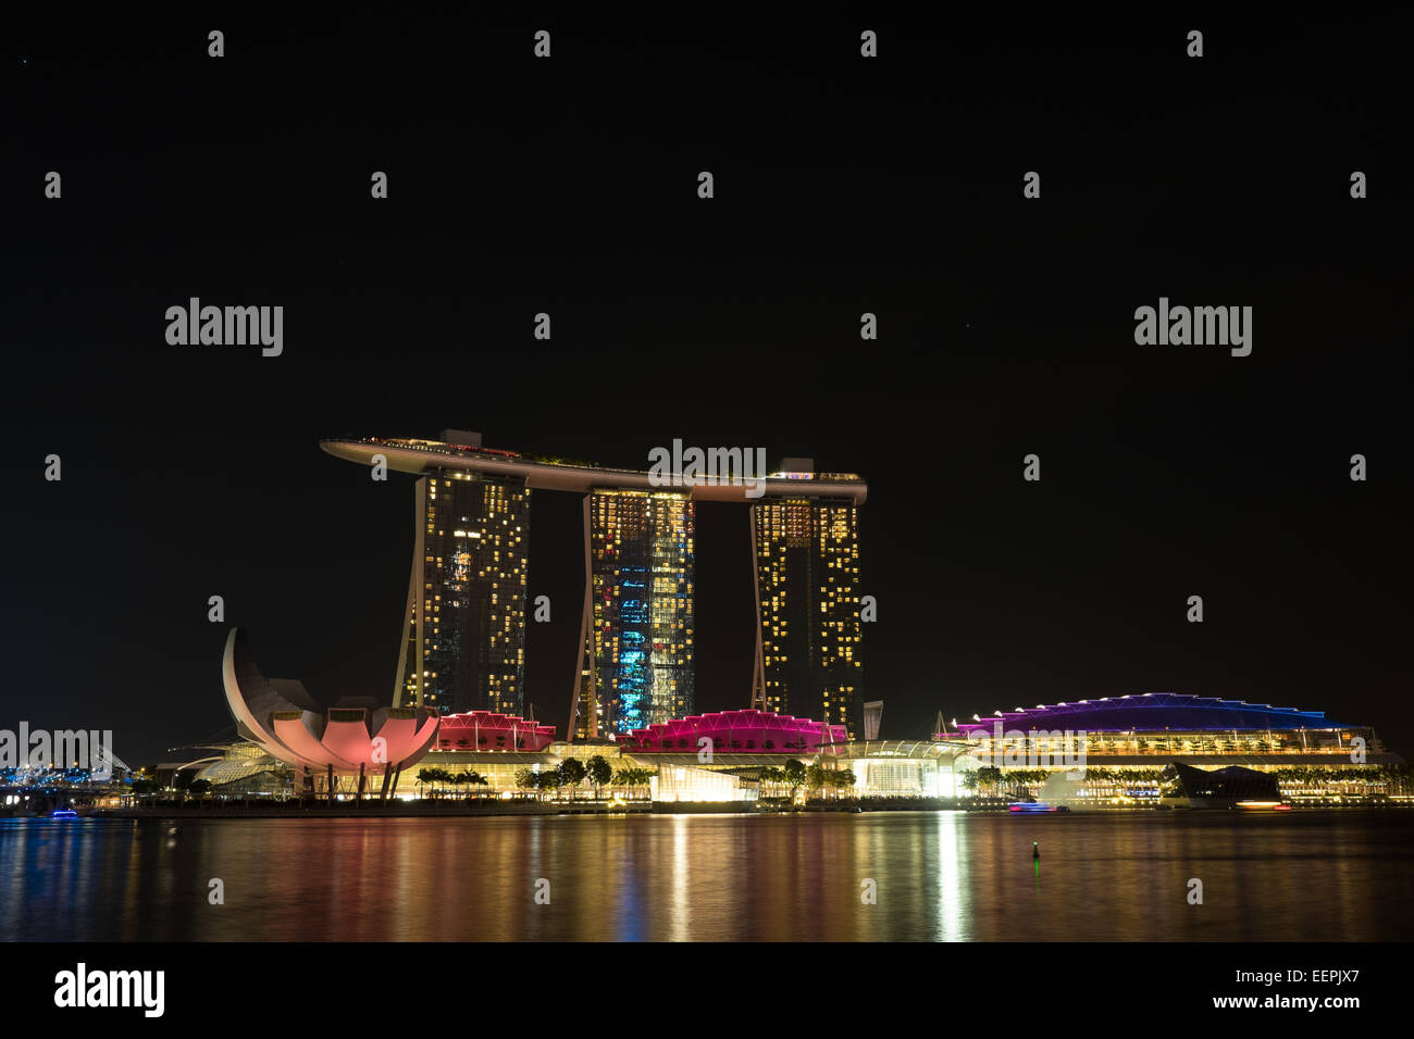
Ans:
POLYGON ((1120 732, 1128 729, 1345 729, 1357 728, 1331 721, 1325 711, 1298 711, 1294 707, 1249 704, 1241 700, 1193 697, 1182 693, 1140 693, 1100 700, 1077 700, 1017 711, 1001 711, 990 718, 969 721, 963 732, 1003 729, 1086 729, 1120 732))

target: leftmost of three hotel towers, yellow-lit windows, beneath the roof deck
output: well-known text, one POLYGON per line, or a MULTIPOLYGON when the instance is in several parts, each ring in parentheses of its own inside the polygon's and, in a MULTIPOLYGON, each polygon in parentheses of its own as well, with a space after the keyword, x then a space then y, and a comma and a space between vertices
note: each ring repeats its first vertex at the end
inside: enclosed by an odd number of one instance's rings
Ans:
POLYGON ((522 714, 530 491, 433 471, 416 503, 395 703, 522 714))

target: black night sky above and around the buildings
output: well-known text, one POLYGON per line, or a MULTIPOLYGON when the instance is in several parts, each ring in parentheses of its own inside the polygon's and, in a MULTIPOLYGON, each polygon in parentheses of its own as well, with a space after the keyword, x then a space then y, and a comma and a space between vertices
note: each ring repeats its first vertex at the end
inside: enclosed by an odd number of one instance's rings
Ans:
MULTIPOLYGON (((865 475, 888 736, 1152 690, 1414 751, 1403 25, 922 17, 11 24, 0 727, 133 763, 228 728, 214 594, 267 674, 387 694, 410 479, 318 440, 460 427, 865 475), (191 295, 283 305, 283 356, 167 345, 191 295), (1251 305, 1251 356, 1137 346, 1161 295, 1251 305)), ((577 519, 536 493, 526 681, 561 732, 577 519)), ((742 707, 742 513, 699 544, 697 707, 742 707)))

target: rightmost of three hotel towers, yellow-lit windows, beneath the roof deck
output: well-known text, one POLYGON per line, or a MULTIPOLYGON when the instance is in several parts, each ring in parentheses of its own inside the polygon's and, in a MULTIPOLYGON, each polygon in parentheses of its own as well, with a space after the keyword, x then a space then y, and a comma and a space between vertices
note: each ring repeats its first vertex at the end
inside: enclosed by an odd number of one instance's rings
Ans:
POLYGON ((854 735, 863 691, 860 524, 853 500, 776 498, 751 506, 756 578, 754 701, 854 735))

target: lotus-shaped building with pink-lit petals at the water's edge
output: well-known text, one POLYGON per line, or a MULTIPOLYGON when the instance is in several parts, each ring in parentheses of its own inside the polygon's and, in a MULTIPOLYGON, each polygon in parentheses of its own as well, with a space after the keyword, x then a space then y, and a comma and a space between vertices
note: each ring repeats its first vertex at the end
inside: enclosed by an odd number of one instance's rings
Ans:
POLYGON ((396 790, 397 775, 437 741, 438 717, 424 707, 376 707, 372 697, 322 705, 301 681, 266 679, 239 628, 226 639, 222 680, 236 731, 271 758, 294 765, 305 789, 324 775, 329 796, 335 773, 356 773, 359 796, 372 775, 383 777, 386 797, 389 779, 396 790))

